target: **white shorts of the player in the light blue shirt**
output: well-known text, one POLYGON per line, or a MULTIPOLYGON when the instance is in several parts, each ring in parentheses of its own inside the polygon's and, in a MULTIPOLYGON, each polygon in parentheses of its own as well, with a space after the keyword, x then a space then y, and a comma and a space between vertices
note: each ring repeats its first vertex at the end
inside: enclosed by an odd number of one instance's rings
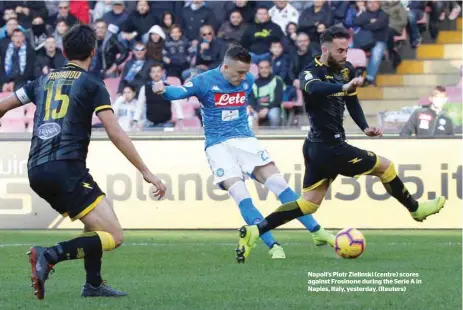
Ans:
POLYGON ((209 167, 214 174, 214 183, 230 178, 251 175, 255 167, 272 162, 267 151, 256 138, 233 138, 206 149, 209 167))

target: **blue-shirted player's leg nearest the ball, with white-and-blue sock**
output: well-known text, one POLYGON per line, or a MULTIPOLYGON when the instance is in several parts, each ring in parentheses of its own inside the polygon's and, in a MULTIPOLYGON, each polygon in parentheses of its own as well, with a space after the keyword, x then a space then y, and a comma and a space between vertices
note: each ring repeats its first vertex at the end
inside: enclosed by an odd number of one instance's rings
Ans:
MULTIPOLYGON (((297 201, 300 198, 300 196, 291 189, 273 162, 265 166, 256 167, 252 175, 258 182, 264 184, 265 187, 274 193, 282 204, 297 201)), ((312 237, 315 245, 334 245, 334 235, 325 231, 312 215, 309 214, 298 217, 298 220, 313 233, 312 237)))

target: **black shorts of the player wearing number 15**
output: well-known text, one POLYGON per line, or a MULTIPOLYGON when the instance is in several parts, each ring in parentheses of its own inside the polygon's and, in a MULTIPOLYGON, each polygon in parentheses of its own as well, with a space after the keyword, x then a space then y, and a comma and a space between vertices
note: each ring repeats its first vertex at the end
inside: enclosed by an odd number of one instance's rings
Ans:
POLYGON ((103 191, 78 160, 51 161, 29 170, 29 184, 53 209, 78 220, 92 211, 103 191))

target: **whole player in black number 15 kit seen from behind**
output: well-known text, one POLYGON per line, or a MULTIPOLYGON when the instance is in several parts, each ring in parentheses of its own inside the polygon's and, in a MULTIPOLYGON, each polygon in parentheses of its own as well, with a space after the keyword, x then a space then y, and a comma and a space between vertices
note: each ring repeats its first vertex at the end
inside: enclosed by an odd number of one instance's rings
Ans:
POLYGON ((165 185, 143 163, 127 134, 119 126, 102 81, 87 73, 95 55, 92 28, 74 26, 63 37, 69 63, 41 76, 0 101, 0 117, 29 102, 37 108, 28 162, 31 188, 53 209, 85 225, 81 236, 53 247, 33 246, 29 254, 32 281, 38 299, 45 296, 45 280, 59 262, 84 259, 87 273, 82 296, 124 296, 101 278, 103 251, 122 244, 121 225, 104 193, 86 167, 92 115, 103 123, 110 140, 155 187, 162 198, 165 185))

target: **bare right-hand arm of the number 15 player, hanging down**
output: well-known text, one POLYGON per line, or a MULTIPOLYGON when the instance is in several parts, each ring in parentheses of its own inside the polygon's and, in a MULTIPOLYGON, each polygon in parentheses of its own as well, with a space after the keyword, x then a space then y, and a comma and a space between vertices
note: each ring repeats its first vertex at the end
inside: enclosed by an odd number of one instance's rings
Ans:
POLYGON ((154 195, 161 199, 166 193, 166 186, 146 167, 127 133, 119 126, 113 111, 103 110, 98 113, 111 142, 141 172, 146 182, 155 186, 154 195))

